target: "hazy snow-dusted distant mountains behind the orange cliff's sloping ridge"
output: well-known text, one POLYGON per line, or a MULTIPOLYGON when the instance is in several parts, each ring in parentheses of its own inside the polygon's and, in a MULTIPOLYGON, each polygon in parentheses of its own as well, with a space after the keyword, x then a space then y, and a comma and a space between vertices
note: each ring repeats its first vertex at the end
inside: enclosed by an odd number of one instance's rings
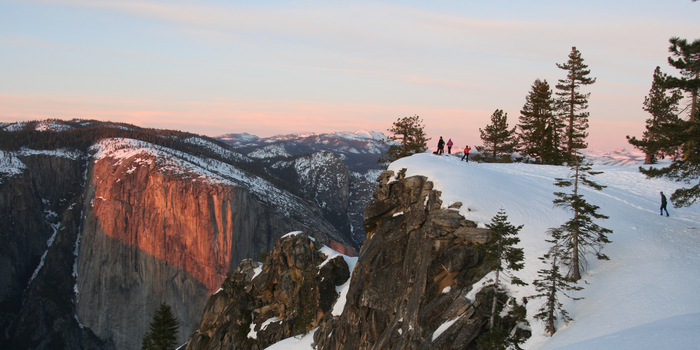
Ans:
POLYGON ((358 248, 362 244, 364 208, 372 199, 382 170, 377 161, 393 142, 384 134, 360 129, 265 138, 238 133, 217 139, 298 189, 301 196, 323 210, 326 220, 350 236, 358 248), (329 191, 328 186, 334 190, 329 191))

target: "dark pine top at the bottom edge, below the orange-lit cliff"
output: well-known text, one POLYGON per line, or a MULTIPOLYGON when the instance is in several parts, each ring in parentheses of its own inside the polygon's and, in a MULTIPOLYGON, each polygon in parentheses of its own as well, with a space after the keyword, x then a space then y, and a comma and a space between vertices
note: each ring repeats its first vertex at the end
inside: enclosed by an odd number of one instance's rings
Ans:
POLYGON ((161 303, 148 332, 143 336, 141 350, 173 350, 177 345, 177 332, 180 323, 169 305, 161 303))

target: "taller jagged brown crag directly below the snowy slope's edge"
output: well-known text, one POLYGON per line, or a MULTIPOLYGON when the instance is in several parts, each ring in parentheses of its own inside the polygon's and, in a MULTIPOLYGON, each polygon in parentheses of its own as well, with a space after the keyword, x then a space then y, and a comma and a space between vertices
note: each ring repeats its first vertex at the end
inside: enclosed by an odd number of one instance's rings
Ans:
POLYGON ((487 272, 475 249, 485 230, 442 209, 425 177, 390 171, 365 211, 365 230, 345 309, 322 322, 317 349, 475 348, 485 319, 466 295, 487 272))

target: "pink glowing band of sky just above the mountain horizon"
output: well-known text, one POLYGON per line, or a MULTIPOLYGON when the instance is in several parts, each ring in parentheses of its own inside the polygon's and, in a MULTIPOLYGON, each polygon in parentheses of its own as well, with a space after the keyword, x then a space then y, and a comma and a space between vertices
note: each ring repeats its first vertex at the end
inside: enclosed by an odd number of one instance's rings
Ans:
MULTIPOLYGON (((398 118, 417 114, 426 126, 429 146, 440 136, 456 147, 480 145, 479 128, 493 111, 429 108, 414 105, 370 105, 296 100, 167 101, 105 96, 0 94, 0 120, 4 122, 59 119, 97 119, 142 127, 178 129, 209 136, 248 132, 272 136, 294 132, 335 132, 367 129, 387 132, 398 118)), ((518 121, 509 113, 509 124, 518 121)), ((644 120, 591 119, 591 148, 628 147, 625 135, 641 135, 644 120)))

